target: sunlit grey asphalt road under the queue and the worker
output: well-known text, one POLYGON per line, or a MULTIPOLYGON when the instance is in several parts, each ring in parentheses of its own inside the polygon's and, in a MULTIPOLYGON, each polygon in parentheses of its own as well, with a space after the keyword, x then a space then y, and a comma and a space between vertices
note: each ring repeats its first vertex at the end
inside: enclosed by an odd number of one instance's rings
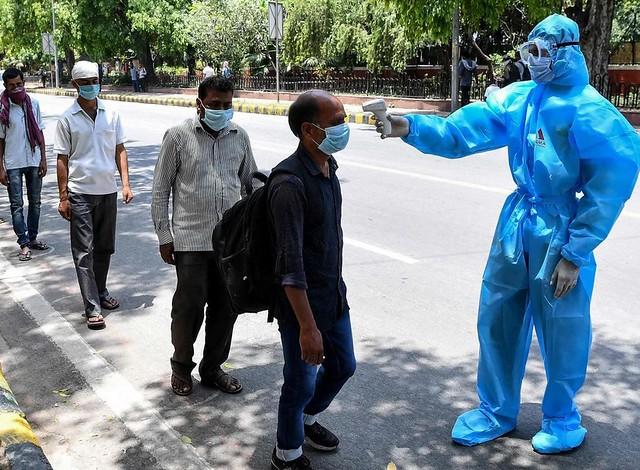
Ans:
MULTIPOLYGON (((69 98, 38 96, 52 143, 69 98)), ((165 130, 192 109, 108 102, 119 110, 134 202, 119 206, 110 290, 122 304, 104 331, 87 330, 68 240, 57 214, 54 159, 43 189, 41 237, 53 246, 19 263, 10 223, 0 225, 0 360, 55 468, 267 469, 275 442, 282 356, 266 315, 236 325, 227 366, 239 396, 169 389, 175 274, 157 253, 151 182, 165 130)), ((293 152, 286 118, 236 114, 260 168, 293 152)), ((51 145, 48 145, 51 151, 51 145)), ((337 453, 308 455, 318 469, 635 469, 640 460, 640 196, 598 250, 594 344, 580 394, 585 445, 535 454, 544 370, 532 348, 518 429, 476 448, 450 442, 456 416, 476 403, 480 280, 498 212, 513 189, 506 154, 423 156, 353 126, 339 154, 345 279, 358 371, 321 422, 337 453)), ((8 218, 8 198, 0 200, 8 218)), ((202 335, 197 345, 199 357, 202 335)), ((197 360, 197 359, 196 359, 197 360)))

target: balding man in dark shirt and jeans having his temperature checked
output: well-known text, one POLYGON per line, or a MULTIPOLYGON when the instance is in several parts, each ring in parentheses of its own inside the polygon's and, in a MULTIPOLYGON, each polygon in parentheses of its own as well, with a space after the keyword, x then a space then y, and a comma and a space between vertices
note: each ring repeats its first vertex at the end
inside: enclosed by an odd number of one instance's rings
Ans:
POLYGON ((342 103, 324 91, 300 95, 289 109, 296 152, 276 168, 269 186, 284 384, 272 470, 309 470, 302 444, 323 451, 338 438, 316 421, 353 375, 356 360, 342 280, 342 195, 332 154, 349 141, 342 103), (317 366, 320 365, 318 368, 317 366))

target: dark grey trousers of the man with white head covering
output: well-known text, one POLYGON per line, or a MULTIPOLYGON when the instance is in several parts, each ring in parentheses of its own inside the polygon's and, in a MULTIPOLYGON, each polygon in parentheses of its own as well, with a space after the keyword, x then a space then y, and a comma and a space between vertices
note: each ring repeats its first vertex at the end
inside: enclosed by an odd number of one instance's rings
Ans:
POLYGON ((100 299, 109 294, 107 274, 115 252, 117 193, 69 193, 71 254, 87 316, 101 313, 100 299))

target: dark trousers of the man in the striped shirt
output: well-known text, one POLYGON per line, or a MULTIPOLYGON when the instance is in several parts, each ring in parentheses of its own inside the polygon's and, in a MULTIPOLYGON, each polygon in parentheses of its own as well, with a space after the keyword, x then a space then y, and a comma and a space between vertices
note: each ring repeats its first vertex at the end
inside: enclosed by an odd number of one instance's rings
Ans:
POLYGON ((203 380, 227 360, 237 315, 231 312, 224 285, 212 251, 179 251, 175 253, 178 285, 171 309, 171 368, 188 378, 196 366, 193 345, 205 319, 205 340, 200 376, 203 380))

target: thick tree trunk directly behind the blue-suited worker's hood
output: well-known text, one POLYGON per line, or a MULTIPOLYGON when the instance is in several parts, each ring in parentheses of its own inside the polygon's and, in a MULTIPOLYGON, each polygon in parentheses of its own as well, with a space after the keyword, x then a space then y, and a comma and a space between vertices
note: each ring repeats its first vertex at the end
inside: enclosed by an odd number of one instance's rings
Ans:
POLYGON ((582 52, 592 81, 606 80, 609 73, 614 6, 615 0, 578 0, 566 10, 580 27, 582 52))

